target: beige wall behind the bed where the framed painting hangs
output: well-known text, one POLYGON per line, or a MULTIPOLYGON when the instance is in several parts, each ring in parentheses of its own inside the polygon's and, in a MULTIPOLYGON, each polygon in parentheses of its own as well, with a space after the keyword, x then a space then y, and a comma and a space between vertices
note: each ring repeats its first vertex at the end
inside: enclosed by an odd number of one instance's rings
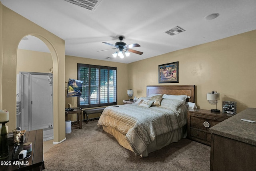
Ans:
POLYGON ((128 64, 128 87, 146 96, 146 85, 196 85, 196 104, 214 109, 206 93, 237 101, 237 111, 256 107, 256 30, 128 64), (179 83, 158 84, 158 65, 179 62, 179 83))

